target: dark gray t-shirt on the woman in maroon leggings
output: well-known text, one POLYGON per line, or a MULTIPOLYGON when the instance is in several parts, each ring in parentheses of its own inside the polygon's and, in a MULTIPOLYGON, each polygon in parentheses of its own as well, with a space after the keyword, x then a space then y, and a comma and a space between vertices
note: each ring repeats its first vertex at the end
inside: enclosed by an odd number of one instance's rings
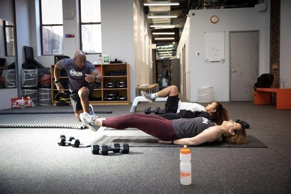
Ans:
POLYGON ((173 120, 173 129, 178 139, 194 137, 212 126, 214 126, 214 123, 204 117, 179 118, 173 120))

